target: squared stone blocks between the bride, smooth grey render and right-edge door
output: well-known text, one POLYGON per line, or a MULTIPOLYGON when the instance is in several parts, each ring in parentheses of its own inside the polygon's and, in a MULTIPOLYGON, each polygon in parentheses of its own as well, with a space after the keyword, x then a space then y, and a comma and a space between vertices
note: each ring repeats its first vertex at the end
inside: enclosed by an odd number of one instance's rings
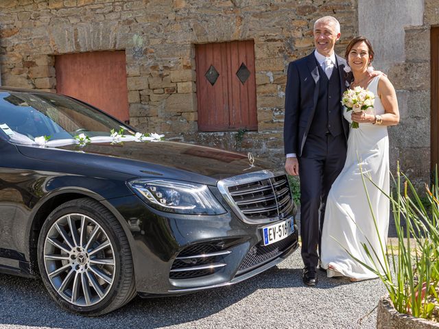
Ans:
POLYGON ((430 180, 430 27, 439 24, 439 0, 423 1, 423 20, 405 26, 405 61, 390 68, 399 90, 401 123, 392 128, 392 157, 418 186, 430 180))

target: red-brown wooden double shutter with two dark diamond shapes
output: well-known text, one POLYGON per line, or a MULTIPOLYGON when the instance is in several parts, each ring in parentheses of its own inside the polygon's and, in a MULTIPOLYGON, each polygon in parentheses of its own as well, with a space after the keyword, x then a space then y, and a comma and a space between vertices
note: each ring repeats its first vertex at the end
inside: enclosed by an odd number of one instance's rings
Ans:
POLYGON ((254 42, 196 45, 198 128, 257 130, 254 42))

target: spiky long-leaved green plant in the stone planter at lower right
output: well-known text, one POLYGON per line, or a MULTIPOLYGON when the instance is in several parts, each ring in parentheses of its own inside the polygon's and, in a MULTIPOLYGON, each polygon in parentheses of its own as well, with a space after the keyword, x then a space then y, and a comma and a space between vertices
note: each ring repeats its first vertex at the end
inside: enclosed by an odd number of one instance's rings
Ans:
MULTIPOLYGON (((378 234, 377 221, 365 182, 366 179, 370 182, 372 180, 366 177, 362 170, 361 177, 378 234)), ((379 188, 375 182, 372 184, 379 188)), ((399 164, 394 184, 396 195, 392 193, 386 196, 392 205, 399 252, 395 253, 391 245, 391 252, 386 253, 383 241, 380 241, 381 250, 375 250, 366 239, 367 243, 362 243, 362 245, 372 263, 370 266, 355 258, 348 249, 345 250, 361 265, 379 276, 389 293, 394 308, 399 313, 436 319, 439 306, 438 173, 436 170, 431 188, 425 185, 425 197, 420 197, 412 182, 401 173, 399 164), (403 220, 405 220, 405 226, 401 226, 403 220), (379 260, 378 255, 382 256, 382 261, 379 260)), ((381 188, 379 189, 385 193, 381 188)))

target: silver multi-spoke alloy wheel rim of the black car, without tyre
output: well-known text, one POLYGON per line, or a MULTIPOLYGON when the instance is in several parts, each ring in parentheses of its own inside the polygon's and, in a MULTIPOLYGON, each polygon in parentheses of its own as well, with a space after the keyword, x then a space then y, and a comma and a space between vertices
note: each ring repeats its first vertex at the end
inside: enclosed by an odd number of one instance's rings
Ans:
POLYGON ((92 306, 115 281, 115 252, 102 226, 81 214, 64 215, 49 229, 44 264, 52 287, 67 302, 92 306))

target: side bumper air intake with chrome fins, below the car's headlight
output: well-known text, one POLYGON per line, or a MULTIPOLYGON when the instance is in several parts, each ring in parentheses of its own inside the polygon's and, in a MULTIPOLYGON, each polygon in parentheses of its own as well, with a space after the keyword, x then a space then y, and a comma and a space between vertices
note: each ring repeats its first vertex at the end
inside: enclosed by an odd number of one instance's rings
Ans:
POLYGON ((200 276, 209 276, 217 269, 226 266, 222 262, 225 255, 230 254, 226 250, 207 244, 190 245, 183 249, 174 260, 169 278, 191 279, 200 276))

